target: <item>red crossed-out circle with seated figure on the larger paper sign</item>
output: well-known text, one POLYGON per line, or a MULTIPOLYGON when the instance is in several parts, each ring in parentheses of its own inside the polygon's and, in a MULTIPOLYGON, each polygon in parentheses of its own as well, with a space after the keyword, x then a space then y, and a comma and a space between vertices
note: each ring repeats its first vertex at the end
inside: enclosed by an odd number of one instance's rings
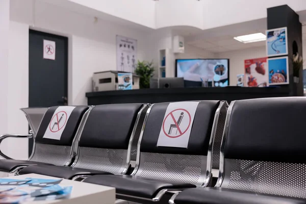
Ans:
MULTIPOLYGON (((184 114, 185 115, 185 114, 184 114)), ((173 111, 171 111, 166 117, 165 117, 165 119, 164 119, 164 121, 163 121, 163 132, 164 132, 164 134, 167 136, 167 137, 170 137, 170 138, 177 138, 177 137, 181 137, 182 135, 184 135, 186 132, 187 132, 187 130, 189 129, 189 127, 190 127, 190 124, 191 124, 191 115, 190 115, 190 113, 186 110, 186 109, 175 109, 175 110, 173 110, 173 111), (189 120, 189 122, 188 122, 188 126, 187 127, 185 127, 185 130, 182 130, 181 128, 180 128, 180 124, 177 124, 177 118, 175 119, 175 117, 174 117, 174 115, 173 114, 176 114, 176 113, 180 113, 179 115, 181 115, 181 113, 187 113, 187 115, 188 115, 188 117, 186 118, 184 118, 185 120, 189 120), (169 120, 169 122, 171 121, 171 123, 172 124, 174 124, 175 125, 175 128, 177 129, 177 131, 179 132, 179 135, 176 135, 176 136, 171 136, 171 135, 169 135, 169 134, 167 134, 167 131, 165 130, 165 122, 166 122, 166 120, 169 120)), ((185 125, 186 126, 186 125, 185 125)))

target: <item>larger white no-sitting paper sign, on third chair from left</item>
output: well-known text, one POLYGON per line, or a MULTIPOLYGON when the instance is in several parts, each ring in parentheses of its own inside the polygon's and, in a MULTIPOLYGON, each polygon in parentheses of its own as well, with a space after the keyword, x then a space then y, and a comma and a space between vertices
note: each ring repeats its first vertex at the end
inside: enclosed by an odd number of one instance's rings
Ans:
POLYGON ((199 102, 170 103, 167 107, 157 146, 188 147, 191 127, 199 102))

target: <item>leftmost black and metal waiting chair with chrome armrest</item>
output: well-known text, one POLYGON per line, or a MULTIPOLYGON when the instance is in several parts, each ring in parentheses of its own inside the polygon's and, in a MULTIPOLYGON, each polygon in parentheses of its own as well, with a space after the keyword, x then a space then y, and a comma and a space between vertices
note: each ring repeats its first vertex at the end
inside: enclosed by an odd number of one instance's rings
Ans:
POLYGON ((18 173, 18 171, 26 166, 37 164, 48 165, 70 165, 73 159, 72 144, 75 135, 77 135, 78 127, 82 123, 83 116, 89 109, 87 106, 77 106, 73 109, 60 140, 43 138, 46 130, 49 128, 49 123, 52 120, 53 114, 57 110, 57 107, 51 107, 45 112, 40 125, 37 129, 37 122, 41 117, 41 113, 45 110, 37 109, 23 109, 31 127, 32 134, 29 135, 17 135, 17 134, 5 134, 0 136, 0 142, 6 138, 34 138, 34 145, 32 155, 28 160, 14 160, 1 152, 1 156, 4 160, 0 160, 0 171, 8 173, 18 173), (37 133, 36 133, 37 131, 37 133))

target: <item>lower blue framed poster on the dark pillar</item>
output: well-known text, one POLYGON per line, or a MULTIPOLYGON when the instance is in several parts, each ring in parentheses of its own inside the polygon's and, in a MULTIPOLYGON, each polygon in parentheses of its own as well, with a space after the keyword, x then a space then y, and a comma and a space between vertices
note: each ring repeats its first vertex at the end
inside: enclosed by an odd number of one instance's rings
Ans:
POLYGON ((270 58, 268 67, 270 85, 289 84, 288 57, 270 58))

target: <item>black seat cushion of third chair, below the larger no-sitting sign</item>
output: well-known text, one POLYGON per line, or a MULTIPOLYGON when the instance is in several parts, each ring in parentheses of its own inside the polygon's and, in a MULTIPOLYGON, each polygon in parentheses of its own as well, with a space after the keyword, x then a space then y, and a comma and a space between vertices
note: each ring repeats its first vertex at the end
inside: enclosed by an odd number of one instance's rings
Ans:
POLYGON ((152 199, 162 189, 195 188, 193 184, 147 179, 131 175, 94 175, 84 182, 116 188, 116 193, 152 199))

